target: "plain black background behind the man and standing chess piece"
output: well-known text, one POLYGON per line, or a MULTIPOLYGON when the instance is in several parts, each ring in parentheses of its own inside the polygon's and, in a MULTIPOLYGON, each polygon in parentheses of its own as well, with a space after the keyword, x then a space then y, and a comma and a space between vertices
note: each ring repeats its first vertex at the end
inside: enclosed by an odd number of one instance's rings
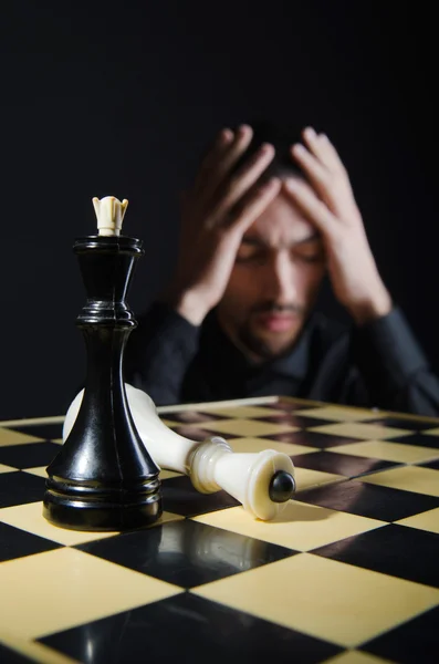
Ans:
MULTIPOLYGON (((0 418, 65 412, 83 380, 72 253, 92 196, 129 199, 135 311, 170 273, 178 191, 224 125, 313 124, 349 170, 381 274, 439 366, 433 6, 2 4, 0 418)), ((337 313, 331 300, 325 307, 337 313)))

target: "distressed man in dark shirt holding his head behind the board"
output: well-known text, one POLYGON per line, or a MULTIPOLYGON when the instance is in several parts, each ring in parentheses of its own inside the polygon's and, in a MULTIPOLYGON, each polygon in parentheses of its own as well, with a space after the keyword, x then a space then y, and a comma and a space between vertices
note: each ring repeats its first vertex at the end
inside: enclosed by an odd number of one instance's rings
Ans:
POLYGON ((335 147, 311 127, 286 156, 268 137, 227 128, 203 158, 175 276, 132 335, 128 382, 157 404, 278 394, 439 415, 439 382, 383 283, 335 147), (351 330, 314 311, 325 273, 351 330))

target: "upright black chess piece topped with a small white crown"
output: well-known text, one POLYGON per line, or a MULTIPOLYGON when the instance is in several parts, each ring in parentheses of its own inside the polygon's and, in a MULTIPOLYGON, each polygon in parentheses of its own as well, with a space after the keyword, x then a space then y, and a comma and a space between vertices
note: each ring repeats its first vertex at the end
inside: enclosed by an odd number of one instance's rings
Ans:
POLYGON ((125 301, 142 240, 121 235, 127 200, 93 199, 97 236, 77 238, 86 303, 76 319, 87 371, 84 397, 48 467, 44 517, 74 530, 127 530, 161 515, 159 468, 139 438, 123 381, 124 349, 136 326, 125 301))

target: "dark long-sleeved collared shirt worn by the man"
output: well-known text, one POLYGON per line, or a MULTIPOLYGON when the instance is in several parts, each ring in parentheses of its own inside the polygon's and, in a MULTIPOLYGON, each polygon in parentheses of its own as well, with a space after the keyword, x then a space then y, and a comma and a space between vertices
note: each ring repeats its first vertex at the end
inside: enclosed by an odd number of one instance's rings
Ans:
POLYGON ((250 362, 215 310, 200 326, 156 302, 138 319, 125 380, 157 405, 286 395, 439 416, 439 381, 398 308, 362 328, 311 315, 293 350, 250 362))

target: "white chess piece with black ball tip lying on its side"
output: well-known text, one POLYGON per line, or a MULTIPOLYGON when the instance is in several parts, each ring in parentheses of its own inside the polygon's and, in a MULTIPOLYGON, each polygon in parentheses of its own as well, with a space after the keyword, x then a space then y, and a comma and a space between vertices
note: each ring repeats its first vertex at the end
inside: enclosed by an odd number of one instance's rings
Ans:
MULTIPOLYGON (((190 440, 160 421, 153 400, 145 392, 127 383, 125 390, 137 432, 160 468, 188 475, 202 494, 224 489, 263 521, 273 519, 293 496, 294 465, 286 454, 274 449, 233 453, 219 436, 203 443, 190 440)), ((83 393, 76 395, 65 416, 64 440, 76 419, 83 393)))

